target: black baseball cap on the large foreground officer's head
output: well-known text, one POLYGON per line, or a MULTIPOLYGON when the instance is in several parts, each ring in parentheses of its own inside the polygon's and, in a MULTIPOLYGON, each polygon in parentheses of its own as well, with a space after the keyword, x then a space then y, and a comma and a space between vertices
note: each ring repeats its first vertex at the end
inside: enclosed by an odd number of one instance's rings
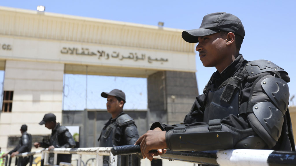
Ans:
POLYGON ((199 29, 185 30, 182 38, 188 43, 198 43, 198 36, 211 35, 220 31, 233 32, 244 38, 244 26, 241 20, 233 14, 218 12, 207 14, 202 19, 199 29))

